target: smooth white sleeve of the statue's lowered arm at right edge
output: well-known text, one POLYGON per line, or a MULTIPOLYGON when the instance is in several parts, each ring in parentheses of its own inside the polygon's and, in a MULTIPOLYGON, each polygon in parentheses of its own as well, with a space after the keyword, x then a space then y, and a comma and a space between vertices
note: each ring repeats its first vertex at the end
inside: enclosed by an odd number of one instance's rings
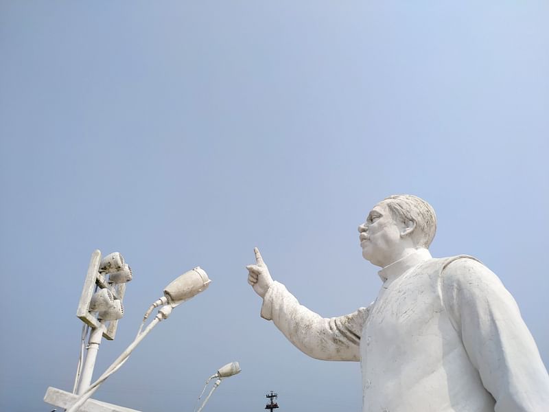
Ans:
POLYGON ((442 275, 445 307, 495 412, 549 411, 549 376, 515 299, 480 262, 461 258, 442 275))

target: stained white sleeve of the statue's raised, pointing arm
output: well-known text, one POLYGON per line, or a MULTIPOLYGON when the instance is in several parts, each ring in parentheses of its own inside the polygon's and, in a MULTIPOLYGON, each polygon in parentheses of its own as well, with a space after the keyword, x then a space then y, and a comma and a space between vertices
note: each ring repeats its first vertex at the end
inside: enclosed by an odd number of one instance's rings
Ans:
POLYGON ((270 286, 261 307, 261 317, 272 320, 301 352, 325 361, 360 361, 360 334, 368 312, 359 308, 340 317, 320 317, 279 282, 270 286))

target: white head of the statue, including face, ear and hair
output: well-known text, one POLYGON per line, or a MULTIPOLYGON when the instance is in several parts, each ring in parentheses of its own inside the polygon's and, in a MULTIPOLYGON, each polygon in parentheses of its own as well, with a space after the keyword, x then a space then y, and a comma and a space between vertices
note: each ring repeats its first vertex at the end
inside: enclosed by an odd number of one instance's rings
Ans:
POLYGON ((436 231, 436 215, 423 199, 397 194, 377 203, 358 231, 362 256, 383 267, 414 249, 428 249, 436 231))

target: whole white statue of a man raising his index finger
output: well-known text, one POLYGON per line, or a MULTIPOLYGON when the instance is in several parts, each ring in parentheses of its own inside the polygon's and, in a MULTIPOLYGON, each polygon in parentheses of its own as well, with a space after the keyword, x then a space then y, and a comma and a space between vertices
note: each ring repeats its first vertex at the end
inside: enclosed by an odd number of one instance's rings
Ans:
POLYGON ((390 196, 358 227, 383 286, 367 308, 323 318, 274 282, 259 250, 246 266, 261 317, 301 351, 360 361, 364 412, 547 412, 549 376, 515 300, 475 258, 432 258, 432 207, 390 196))

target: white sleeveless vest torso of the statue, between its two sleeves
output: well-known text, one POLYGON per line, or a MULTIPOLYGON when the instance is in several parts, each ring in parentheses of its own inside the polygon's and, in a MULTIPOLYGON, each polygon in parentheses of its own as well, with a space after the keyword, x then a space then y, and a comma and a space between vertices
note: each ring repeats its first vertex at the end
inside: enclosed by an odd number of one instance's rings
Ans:
POLYGON ((443 267, 430 259, 386 281, 360 340, 364 412, 493 412, 445 310, 443 267))

